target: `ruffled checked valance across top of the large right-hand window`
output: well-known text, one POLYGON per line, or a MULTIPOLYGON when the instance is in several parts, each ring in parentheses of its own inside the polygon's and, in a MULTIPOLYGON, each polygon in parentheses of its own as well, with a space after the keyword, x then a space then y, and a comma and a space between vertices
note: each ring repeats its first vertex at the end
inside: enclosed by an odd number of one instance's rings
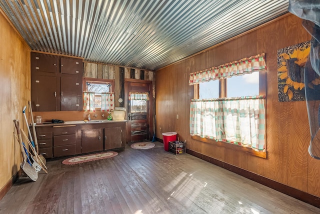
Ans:
POLYGON ((189 85, 254 71, 266 71, 264 53, 190 73, 189 85))

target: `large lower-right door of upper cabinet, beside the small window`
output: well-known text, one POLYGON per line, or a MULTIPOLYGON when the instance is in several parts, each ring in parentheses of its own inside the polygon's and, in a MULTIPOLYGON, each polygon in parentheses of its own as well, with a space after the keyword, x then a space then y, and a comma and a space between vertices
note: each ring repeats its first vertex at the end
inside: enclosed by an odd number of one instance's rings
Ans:
POLYGON ((61 110, 82 109, 82 77, 80 75, 61 74, 61 110))

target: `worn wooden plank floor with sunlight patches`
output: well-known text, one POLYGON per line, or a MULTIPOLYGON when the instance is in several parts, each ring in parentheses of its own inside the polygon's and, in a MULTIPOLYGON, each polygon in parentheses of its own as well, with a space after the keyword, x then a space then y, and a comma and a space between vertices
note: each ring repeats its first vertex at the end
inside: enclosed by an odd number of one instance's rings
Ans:
POLYGON ((155 142, 115 157, 47 161, 37 181, 20 177, 0 213, 320 213, 320 209, 155 142))

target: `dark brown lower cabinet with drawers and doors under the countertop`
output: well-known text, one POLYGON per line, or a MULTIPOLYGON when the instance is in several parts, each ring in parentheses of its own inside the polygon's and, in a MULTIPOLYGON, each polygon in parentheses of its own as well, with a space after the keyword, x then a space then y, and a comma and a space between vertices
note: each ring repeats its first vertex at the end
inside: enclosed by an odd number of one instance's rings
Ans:
POLYGON ((36 125, 39 153, 45 158, 124 149, 126 121, 36 125))

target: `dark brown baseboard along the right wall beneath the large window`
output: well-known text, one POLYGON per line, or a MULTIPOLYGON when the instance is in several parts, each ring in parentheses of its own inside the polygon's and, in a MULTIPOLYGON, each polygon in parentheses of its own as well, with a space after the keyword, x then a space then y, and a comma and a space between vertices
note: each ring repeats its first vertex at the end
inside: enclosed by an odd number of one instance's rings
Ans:
POLYGON ((294 197, 298 200, 301 200, 303 202, 306 202, 306 203, 309 203, 313 206, 316 206, 318 208, 320 208, 320 197, 317 197, 315 195, 312 195, 312 194, 309 194, 307 192, 304 192, 304 191, 301 191, 301 190, 298 190, 298 189, 295 189, 293 187, 290 187, 290 186, 287 186, 287 185, 284 185, 282 183, 279 183, 275 180, 271 180, 267 177, 264 177, 264 176, 261 176, 259 174, 256 174, 256 173, 253 173, 253 172, 250 172, 250 171, 247 171, 243 168, 239 168, 235 165, 231 165, 229 163, 226 163, 226 162, 223 162, 221 160, 218 160, 218 159, 214 159, 212 157, 209 157, 209 156, 206 156, 204 154, 201 154, 197 151, 193 151, 193 150, 190 150, 190 149, 186 149, 186 153, 188 154, 191 154, 193 156, 196 156, 200 159, 203 159, 205 161, 208 161, 214 165, 217 165, 217 166, 220 166, 222 168, 225 168, 229 171, 232 171, 234 173, 237 173, 243 177, 246 177, 250 180, 253 180, 257 183, 260 183, 260 184, 263 184, 265 186, 268 186, 270 188, 273 188, 279 192, 282 192, 284 194, 287 194, 291 197, 294 197))

